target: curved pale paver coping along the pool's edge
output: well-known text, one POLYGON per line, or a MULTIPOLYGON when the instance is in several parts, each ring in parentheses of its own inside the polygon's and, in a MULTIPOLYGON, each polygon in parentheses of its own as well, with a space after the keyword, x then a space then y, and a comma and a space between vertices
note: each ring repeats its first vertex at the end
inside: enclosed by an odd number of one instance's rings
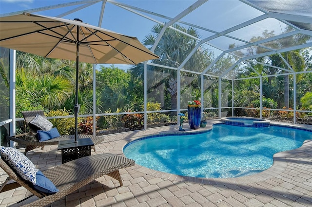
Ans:
MULTIPOLYGON (((178 131, 178 125, 175 125, 174 129, 170 131, 168 130, 161 131, 162 127, 158 127, 160 131, 156 133, 154 132, 153 134, 145 134, 145 135, 138 136, 135 138, 127 138, 126 140, 125 139, 119 140, 113 149, 113 153, 124 156, 123 148, 129 142, 137 140, 137 139, 146 138, 146 137, 164 136, 164 135, 169 136, 169 135, 175 135, 175 134, 188 134, 188 133, 200 134, 200 133, 205 133, 211 130, 213 125, 215 124, 224 124, 224 123, 220 120, 210 120, 210 121, 207 121, 207 125, 205 128, 199 128, 197 130, 192 130, 188 127, 187 124, 185 124, 186 127, 183 127, 185 129, 184 132, 178 131)), ((274 121, 271 121, 271 125, 312 131, 312 125, 283 123, 283 122, 274 122, 274 121)), ((307 149, 311 149, 311 148, 312 148, 312 139, 307 139, 299 148, 274 154, 273 165, 269 169, 262 171, 260 173, 253 174, 253 175, 234 177, 234 178, 201 178, 201 177, 182 176, 182 175, 177 175, 177 174, 172 174, 172 173, 156 171, 153 169, 143 167, 138 164, 135 164, 135 166, 133 167, 133 170, 139 173, 144 173, 144 174, 151 175, 154 177, 159 177, 162 179, 167 179, 171 181, 179 181, 179 182, 190 182, 190 183, 209 184, 209 185, 249 184, 249 183, 264 181, 264 180, 276 177, 277 175, 279 175, 280 173, 286 170, 287 157, 291 157, 294 154, 304 152, 307 149)))

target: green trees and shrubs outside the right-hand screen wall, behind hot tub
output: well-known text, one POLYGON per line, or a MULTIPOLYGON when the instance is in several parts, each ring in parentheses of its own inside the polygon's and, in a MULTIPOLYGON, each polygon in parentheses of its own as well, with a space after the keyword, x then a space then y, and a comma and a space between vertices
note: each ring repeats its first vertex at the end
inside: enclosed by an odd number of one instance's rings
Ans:
MULTIPOLYGON (((267 37, 275 36, 274 31, 264 31, 262 36, 253 37, 250 41, 258 41, 267 37)), ((311 37, 307 35, 294 35, 289 37, 287 41, 265 43, 267 47, 283 48, 285 44, 295 42, 305 42, 311 37)), ((231 45, 230 48, 235 47, 231 45)), ((254 47, 250 52, 261 53, 260 47, 254 47)), ((239 55, 239 54, 237 54, 239 55)), ((283 118, 282 111, 273 113, 269 109, 285 109, 293 108, 293 86, 296 85, 296 109, 309 108, 309 92, 311 91, 312 77, 310 73, 300 73, 311 70, 312 55, 311 49, 295 50, 290 52, 282 52, 280 54, 273 54, 255 59, 256 62, 265 63, 261 65, 258 63, 251 63, 249 66, 242 69, 244 72, 238 75, 238 78, 258 76, 258 74, 268 75, 262 78, 262 107, 263 116, 276 116, 283 118), (251 66, 251 67, 250 67, 251 66), (253 68, 253 69, 252 69, 253 68), (286 70, 283 70, 286 69, 286 70), (294 77, 288 71, 293 70, 297 72, 294 77), (285 75, 283 75, 285 74, 285 75), (295 83, 294 83, 295 81, 295 83), (309 83, 309 84, 308 84, 309 83), (306 98, 304 98, 306 97, 306 98), (299 101, 298 101, 299 100, 299 101)), ((260 82, 259 78, 239 80, 234 82, 234 105, 236 107, 251 107, 259 108, 260 106, 260 82)), ((290 114, 289 112, 285 112, 290 114)), ((259 110, 242 110, 235 109, 235 116, 256 116, 259 117, 259 110), (245 112, 244 112, 245 111, 245 112), (256 112, 257 111, 257 112, 256 112)), ((309 114, 307 114, 309 115, 309 114)), ((290 116, 291 117, 291 116, 290 116)), ((292 116, 293 117, 293 116, 292 116)))

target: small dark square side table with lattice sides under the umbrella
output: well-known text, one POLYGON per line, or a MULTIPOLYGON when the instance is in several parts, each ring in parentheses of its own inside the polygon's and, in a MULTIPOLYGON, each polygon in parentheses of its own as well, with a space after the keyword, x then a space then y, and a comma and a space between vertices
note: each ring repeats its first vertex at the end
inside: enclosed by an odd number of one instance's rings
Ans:
POLYGON ((59 141, 58 150, 62 151, 62 164, 91 155, 91 146, 94 146, 91 138, 78 138, 77 142, 74 140, 59 141))

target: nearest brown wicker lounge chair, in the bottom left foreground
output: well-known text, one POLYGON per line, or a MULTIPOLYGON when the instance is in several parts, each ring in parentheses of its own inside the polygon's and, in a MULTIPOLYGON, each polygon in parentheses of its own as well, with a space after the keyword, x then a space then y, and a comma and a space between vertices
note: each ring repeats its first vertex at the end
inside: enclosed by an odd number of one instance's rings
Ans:
POLYGON ((122 180, 118 170, 134 165, 134 160, 110 153, 85 156, 72 160, 42 172, 59 189, 59 192, 47 195, 34 189, 32 183, 22 179, 2 158, 0 158, 0 167, 9 175, 2 186, 0 186, 0 192, 23 186, 33 193, 33 195, 39 197, 36 201, 25 204, 25 206, 46 206, 103 175, 109 175, 117 179, 120 186, 122 186, 122 180), (12 182, 12 180, 16 182, 12 182))

